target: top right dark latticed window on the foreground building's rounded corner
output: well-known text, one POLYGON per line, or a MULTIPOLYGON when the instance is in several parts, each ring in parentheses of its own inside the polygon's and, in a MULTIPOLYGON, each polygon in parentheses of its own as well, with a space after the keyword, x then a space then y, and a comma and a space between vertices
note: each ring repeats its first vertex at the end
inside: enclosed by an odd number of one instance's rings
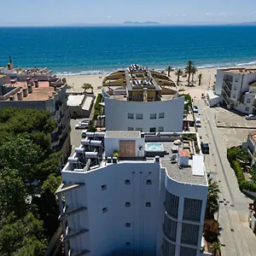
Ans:
POLYGON ((185 198, 183 219, 200 222, 202 201, 197 199, 185 198))

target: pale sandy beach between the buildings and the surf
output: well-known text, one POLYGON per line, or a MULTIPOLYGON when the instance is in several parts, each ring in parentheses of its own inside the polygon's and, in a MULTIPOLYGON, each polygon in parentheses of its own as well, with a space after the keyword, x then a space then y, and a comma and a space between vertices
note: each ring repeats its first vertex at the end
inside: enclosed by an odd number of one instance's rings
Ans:
MULTIPOLYGON (((222 67, 227 68, 227 67, 222 67)), ((239 67, 236 67, 239 68, 239 67)), ((256 66, 247 66, 246 68, 256 68, 256 66)), ((203 68, 199 69, 195 74, 193 86, 188 86, 187 78, 180 78, 180 83, 178 84, 179 90, 182 93, 189 93, 192 97, 200 97, 202 93, 206 90, 212 90, 215 82, 215 74, 217 73, 217 68, 203 68), (198 75, 202 74, 201 85, 198 85, 198 75)), ((175 71, 170 73, 171 78, 177 81, 177 76, 175 71)), ((89 83, 93 86, 94 92, 100 93, 102 91, 102 80, 106 77, 106 74, 96 74, 96 75, 80 75, 80 76, 67 76, 67 84, 72 86, 71 89, 67 91, 83 91, 81 85, 84 83, 89 83)))

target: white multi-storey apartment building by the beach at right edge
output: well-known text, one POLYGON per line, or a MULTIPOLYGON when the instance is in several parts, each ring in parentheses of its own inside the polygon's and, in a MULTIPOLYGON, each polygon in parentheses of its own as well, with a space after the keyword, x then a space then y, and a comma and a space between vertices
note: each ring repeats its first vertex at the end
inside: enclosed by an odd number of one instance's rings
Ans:
POLYGON ((227 108, 241 113, 255 113, 256 69, 218 69, 215 94, 222 96, 227 108))

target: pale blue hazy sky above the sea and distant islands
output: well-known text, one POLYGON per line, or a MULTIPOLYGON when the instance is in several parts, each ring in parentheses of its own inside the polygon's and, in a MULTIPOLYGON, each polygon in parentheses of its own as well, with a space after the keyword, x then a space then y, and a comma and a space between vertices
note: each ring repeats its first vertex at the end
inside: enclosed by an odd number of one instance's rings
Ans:
POLYGON ((127 20, 170 25, 256 21, 255 0, 0 1, 0 26, 119 24, 127 20))

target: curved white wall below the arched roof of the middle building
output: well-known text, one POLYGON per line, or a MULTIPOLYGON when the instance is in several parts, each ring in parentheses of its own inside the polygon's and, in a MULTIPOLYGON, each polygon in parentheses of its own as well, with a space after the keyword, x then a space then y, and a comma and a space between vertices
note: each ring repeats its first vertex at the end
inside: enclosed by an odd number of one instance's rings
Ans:
POLYGON ((121 102, 105 98, 105 124, 109 131, 128 131, 128 127, 149 128, 163 126, 164 131, 183 131, 184 98, 163 102, 121 102), (128 119, 128 113, 134 114, 134 119, 128 119), (136 119, 136 113, 143 113, 143 119, 136 119), (156 113, 157 119, 150 119, 150 113, 156 113), (159 113, 165 113, 164 119, 159 119, 159 113))

